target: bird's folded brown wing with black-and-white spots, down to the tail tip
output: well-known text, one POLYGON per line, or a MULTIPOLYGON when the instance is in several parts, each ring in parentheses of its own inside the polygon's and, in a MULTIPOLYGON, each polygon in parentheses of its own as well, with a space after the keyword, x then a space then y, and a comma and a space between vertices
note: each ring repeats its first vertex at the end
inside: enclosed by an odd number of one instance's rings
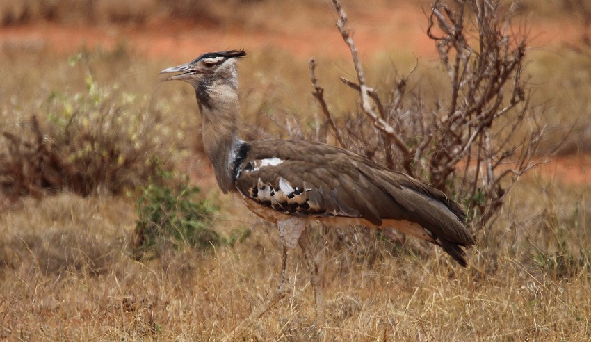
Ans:
POLYGON ((330 145, 290 140, 248 142, 236 188, 283 213, 316 217, 408 220, 465 266, 460 246, 473 244, 460 206, 404 174, 330 145))

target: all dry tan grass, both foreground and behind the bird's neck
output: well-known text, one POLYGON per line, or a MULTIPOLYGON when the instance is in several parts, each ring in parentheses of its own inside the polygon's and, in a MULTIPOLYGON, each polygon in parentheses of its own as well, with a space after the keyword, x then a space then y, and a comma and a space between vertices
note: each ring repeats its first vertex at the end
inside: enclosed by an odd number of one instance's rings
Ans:
MULTIPOLYGON (((85 92, 92 67, 99 86, 137 95, 131 113, 159 117, 159 134, 166 134, 157 137, 166 141, 163 152, 184 170, 190 151, 200 146, 193 90, 159 85, 156 74, 170 63, 138 58, 124 46, 88 56, 88 64, 70 67, 51 51, 3 51, 1 130, 19 127, 31 113, 44 114, 42 104, 54 90, 68 97, 85 92)), ((394 75, 392 65, 403 74, 412 70, 416 61, 408 56, 366 60, 371 83, 391 84, 394 77, 383 76, 394 75)), ((584 66, 589 60, 569 49, 530 56, 529 72, 541 84, 537 101, 555 132, 547 142, 551 148, 564 138, 566 120, 583 133, 588 127, 591 79, 584 66)), ((263 136, 257 127, 290 136, 286 122, 297 118, 301 131, 295 135, 314 138, 318 110, 309 95, 307 61, 282 62, 286 58, 269 48, 252 51, 241 64, 247 136, 263 136)), ((331 110, 347 115, 355 99, 338 76, 351 72, 350 64, 318 63, 331 110)), ((412 84, 430 85, 423 90, 426 99, 437 95, 442 82, 437 67, 420 66, 413 75, 412 84)), ((578 137, 572 150, 587 150, 584 136, 578 137)), ((211 179, 193 181, 212 184, 211 179)), ((228 336, 273 291, 280 241, 275 229, 254 218, 239 199, 220 195, 214 186, 202 190, 220 206, 217 231, 245 227, 252 229, 250 237, 234 247, 170 250, 140 263, 130 247, 137 219, 133 195, 59 193, 24 197, 3 209, 0 339, 217 341, 228 336)), ((411 239, 392 245, 376 234, 353 241, 347 230, 330 231, 323 263, 325 325, 312 318, 305 262, 294 250, 293 295, 263 316, 245 340, 309 341, 325 334, 331 341, 586 341, 591 334, 590 190, 544 174, 524 177, 492 228, 480 232, 466 269, 411 239)))

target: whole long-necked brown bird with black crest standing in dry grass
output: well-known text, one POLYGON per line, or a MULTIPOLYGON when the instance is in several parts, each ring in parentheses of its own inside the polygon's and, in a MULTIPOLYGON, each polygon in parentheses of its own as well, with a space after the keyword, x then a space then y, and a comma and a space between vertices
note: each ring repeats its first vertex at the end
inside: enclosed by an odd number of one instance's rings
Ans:
POLYGON ((245 55, 244 50, 209 52, 161 74, 174 74, 163 81, 185 81, 195 88, 204 149, 222 192, 240 194, 248 209, 279 228, 280 282, 250 319, 285 294, 287 252, 296 245, 311 272, 316 309, 323 314, 323 282, 306 231, 314 220, 394 227, 442 247, 466 266, 462 247, 474 241, 463 223, 464 212, 439 190, 332 145, 240 140, 236 63, 245 55))

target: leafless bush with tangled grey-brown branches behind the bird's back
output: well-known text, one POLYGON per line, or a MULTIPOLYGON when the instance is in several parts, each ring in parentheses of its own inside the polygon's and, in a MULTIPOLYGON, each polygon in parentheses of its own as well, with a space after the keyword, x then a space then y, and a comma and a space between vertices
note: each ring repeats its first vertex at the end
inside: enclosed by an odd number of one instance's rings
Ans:
POLYGON ((313 94, 337 140, 463 200, 469 219, 477 227, 486 225, 515 181, 533 167, 543 133, 528 106, 530 92, 522 79, 527 41, 514 31, 512 6, 501 10, 499 1, 480 0, 433 4, 427 34, 449 88, 446 97, 428 106, 419 90, 407 90, 407 79, 398 80, 387 99, 367 85, 347 16, 339 1, 332 2, 357 73, 357 81, 341 79, 359 93, 359 115, 366 117, 350 119, 353 127, 364 124, 357 141, 350 138, 350 124, 336 127, 311 61, 313 94), (373 135, 364 133, 368 123, 373 135))

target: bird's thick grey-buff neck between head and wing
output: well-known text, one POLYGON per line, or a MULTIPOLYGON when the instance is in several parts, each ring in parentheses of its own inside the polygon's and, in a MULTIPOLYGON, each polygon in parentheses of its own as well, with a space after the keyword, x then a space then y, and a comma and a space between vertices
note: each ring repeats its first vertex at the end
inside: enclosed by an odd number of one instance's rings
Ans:
POLYGON ((235 189, 236 156, 242 141, 238 130, 238 90, 236 82, 213 82, 196 88, 202 115, 203 145, 213 172, 224 193, 235 189))

